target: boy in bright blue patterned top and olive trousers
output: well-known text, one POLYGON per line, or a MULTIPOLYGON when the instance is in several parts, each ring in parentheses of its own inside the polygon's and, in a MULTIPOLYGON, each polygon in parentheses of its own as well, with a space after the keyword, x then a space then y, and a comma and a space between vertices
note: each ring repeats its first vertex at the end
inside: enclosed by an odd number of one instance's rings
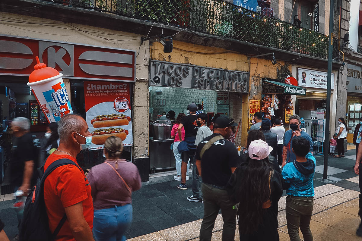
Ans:
POLYGON ((313 241, 310 222, 313 212, 313 176, 316 159, 310 152, 310 143, 304 138, 292 139, 296 159, 287 163, 282 171, 283 189, 287 197, 285 214, 291 241, 300 241, 299 227, 304 241, 313 241))

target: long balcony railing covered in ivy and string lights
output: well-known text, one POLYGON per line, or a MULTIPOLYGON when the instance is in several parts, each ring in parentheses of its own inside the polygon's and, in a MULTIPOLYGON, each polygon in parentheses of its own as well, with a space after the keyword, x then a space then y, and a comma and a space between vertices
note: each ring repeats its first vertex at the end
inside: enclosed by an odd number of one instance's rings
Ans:
MULTIPOLYGON (((185 27, 223 36, 328 58, 328 36, 264 16, 221 0, 54 0, 73 7, 94 9, 131 18, 185 27)), ((338 55, 334 39, 333 57, 338 55)))

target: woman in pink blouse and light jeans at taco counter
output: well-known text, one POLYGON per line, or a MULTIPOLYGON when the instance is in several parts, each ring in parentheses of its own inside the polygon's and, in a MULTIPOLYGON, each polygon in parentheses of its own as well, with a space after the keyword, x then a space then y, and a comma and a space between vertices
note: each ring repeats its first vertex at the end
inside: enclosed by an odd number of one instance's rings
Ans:
MULTIPOLYGON (((177 175, 173 177, 174 180, 176 181, 181 181, 181 153, 178 152, 178 149, 177 149, 177 146, 178 144, 180 144, 180 139, 178 137, 178 134, 177 134, 177 128, 178 128, 178 125, 180 125, 181 123, 181 120, 185 117, 186 115, 184 113, 179 113, 177 115, 177 119, 175 121, 175 124, 172 126, 172 130, 171 130, 171 138, 174 138, 173 140, 173 154, 175 155, 175 159, 176 159, 176 171, 177 171, 177 175)), ((181 137, 182 139, 185 138, 185 130, 184 128, 182 127, 182 130, 181 130, 181 137)), ((190 167, 190 160, 187 164, 187 171, 186 171, 186 181, 189 180, 189 168, 190 167)))

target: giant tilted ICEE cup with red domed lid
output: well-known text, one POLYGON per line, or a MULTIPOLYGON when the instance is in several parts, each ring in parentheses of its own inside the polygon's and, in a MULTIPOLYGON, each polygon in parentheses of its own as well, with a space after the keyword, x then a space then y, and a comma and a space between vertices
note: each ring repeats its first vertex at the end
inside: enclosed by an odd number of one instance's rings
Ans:
POLYGON ((73 113, 68 93, 58 70, 39 62, 29 76, 28 85, 41 106, 48 122, 58 122, 60 118, 73 113))

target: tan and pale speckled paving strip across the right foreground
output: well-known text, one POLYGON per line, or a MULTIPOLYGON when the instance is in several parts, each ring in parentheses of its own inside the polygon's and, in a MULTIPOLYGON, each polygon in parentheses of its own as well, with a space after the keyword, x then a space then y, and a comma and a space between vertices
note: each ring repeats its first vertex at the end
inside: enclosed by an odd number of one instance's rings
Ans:
MULTIPOLYGON (((358 178, 350 178, 358 182, 358 178)), ((318 241, 354 241, 361 240, 355 236, 360 219, 358 213, 358 191, 344 189, 332 184, 315 188, 316 197, 311 221, 311 230, 314 240, 318 241)), ((285 218, 285 197, 278 203, 279 236, 281 241, 289 239, 285 218)), ((175 227, 160 230, 143 236, 129 239, 129 241, 197 241, 202 219, 175 227)), ((222 217, 219 214, 215 222, 212 241, 222 240, 222 217)), ((300 233, 302 238, 302 233, 300 233)), ((235 241, 239 241, 238 229, 235 241)))

